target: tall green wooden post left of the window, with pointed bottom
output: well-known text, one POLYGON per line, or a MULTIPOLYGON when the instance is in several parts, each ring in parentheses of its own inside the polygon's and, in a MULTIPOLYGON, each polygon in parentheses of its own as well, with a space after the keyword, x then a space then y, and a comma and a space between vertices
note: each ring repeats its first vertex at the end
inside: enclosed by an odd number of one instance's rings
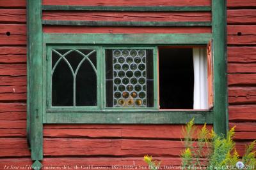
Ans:
POLYGON ((27 0, 29 142, 33 169, 43 159, 43 57, 41 0, 27 0))

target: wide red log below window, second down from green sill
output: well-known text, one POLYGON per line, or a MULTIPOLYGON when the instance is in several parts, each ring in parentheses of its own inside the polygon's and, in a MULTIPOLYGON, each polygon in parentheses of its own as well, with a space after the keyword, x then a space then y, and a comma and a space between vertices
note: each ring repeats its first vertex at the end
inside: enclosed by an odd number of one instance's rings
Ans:
POLYGON ((179 157, 183 147, 170 140, 44 138, 44 156, 179 157))

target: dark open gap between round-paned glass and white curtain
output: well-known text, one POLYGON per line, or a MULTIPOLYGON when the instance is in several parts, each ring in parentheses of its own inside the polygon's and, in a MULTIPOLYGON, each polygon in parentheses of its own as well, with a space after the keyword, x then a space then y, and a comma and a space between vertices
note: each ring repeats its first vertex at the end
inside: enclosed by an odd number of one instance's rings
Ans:
POLYGON ((193 109, 193 48, 159 48, 160 109, 193 109))

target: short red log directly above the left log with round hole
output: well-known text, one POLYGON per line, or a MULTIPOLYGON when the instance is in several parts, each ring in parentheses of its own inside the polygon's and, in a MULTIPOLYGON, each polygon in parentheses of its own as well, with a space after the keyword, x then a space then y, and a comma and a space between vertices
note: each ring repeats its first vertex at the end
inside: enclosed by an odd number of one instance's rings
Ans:
POLYGON ((26 10, 0 9, 0 22, 6 24, 24 24, 26 22, 26 10))

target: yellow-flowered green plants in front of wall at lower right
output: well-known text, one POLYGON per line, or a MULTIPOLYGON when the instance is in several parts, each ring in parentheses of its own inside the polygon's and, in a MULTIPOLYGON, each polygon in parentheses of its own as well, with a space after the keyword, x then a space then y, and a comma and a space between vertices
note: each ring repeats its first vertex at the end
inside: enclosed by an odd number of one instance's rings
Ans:
MULTIPOLYGON (((213 130, 209 132, 206 124, 202 129, 195 127, 194 119, 183 129, 185 150, 181 154, 182 169, 191 166, 208 166, 208 169, 238 169, 236 163, 240 160, 233 141, 235 127, 228 131, 227 136, 218 135, 213 130), (207 160, 207 161, 204 161, 207 160)), ((246 146, 241 161, 247 169, 256 167, 256 153, 253 152, 256 141, 246 146)))

